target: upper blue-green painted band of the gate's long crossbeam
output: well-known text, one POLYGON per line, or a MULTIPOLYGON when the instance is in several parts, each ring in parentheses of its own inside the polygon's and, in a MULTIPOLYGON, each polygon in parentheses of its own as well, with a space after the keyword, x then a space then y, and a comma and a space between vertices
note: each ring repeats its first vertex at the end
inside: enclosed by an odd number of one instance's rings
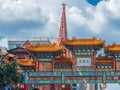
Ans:
POLYGON ((115 71, 66 71, 66 72, 29 72, 28 76, 61 76, 64 74, 64 76, 103 76, 104 74, 106 76, 120 76, 120 72, 115 71))

